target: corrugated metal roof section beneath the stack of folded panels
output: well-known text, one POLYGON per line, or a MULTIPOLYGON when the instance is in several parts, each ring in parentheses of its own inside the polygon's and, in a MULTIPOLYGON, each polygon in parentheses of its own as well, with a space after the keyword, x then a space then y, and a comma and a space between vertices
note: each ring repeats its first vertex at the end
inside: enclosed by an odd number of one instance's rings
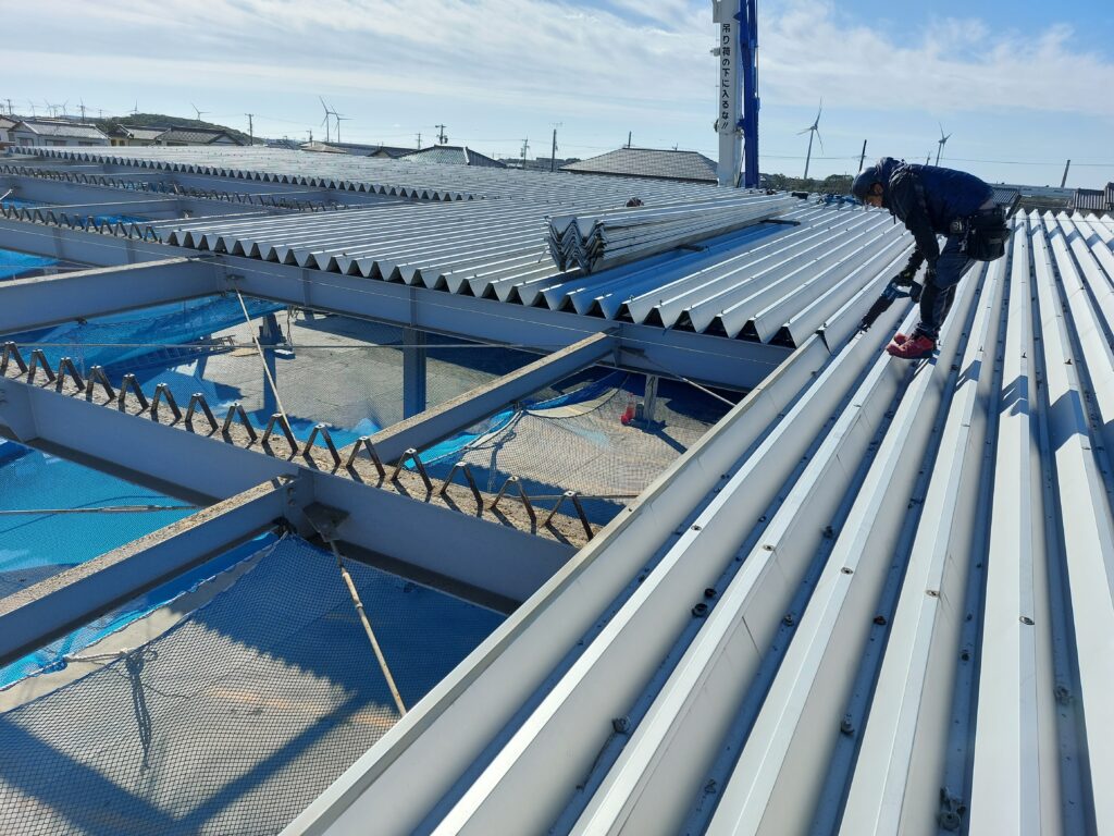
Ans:
POLYGON ((216 216, 150 229, 177 246, 789 346, 911 245, 882 211, 800 204, 780 221, 590 275, 558 270, 544 210, 520 202, 216 216))

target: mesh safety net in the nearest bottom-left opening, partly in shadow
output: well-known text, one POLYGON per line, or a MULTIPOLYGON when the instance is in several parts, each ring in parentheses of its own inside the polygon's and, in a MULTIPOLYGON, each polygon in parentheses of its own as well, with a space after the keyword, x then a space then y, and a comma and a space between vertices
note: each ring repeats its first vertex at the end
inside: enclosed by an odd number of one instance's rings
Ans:
MULTIPOLYGON (((502 621, 348 566, 408 708, 502 621)), ((399 719, 335 560, 296 537, 154 641, 79 655, 98 654, 0 715, 0 833, 278 833, 399 719)))

